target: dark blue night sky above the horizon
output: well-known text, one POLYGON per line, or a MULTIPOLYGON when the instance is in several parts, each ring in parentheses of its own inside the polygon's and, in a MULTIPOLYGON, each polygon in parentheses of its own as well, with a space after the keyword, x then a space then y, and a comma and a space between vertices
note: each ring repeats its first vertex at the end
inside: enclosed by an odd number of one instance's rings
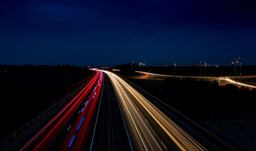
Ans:
POLYGON ((256 1, 1 1, 0 41, 0 64, 256 65, 256 1))

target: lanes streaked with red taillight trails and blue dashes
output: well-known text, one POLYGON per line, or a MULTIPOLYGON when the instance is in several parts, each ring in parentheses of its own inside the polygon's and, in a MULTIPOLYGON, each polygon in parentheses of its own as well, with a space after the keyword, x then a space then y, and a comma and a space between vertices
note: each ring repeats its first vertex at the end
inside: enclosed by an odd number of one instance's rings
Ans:
POLYGON ((44 123, 41 129, 37 129, 35 135, 25 140, 19 150, 86 149, 89 146, 88 138, 92 132, 102 82, 103 73, 96 71, 75 92, 71 101, 51 117, 49 122, 44 123))

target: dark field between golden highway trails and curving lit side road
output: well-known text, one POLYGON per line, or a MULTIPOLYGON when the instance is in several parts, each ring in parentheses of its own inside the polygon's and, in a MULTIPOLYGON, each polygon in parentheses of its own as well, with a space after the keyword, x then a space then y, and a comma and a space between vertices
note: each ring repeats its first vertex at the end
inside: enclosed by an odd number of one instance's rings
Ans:
POLYGON ((219 86, 217 82, 197 81, 195 79, 166 78, 164 81, 138 80, 134 83, 164 100, 170 106, 190 118, 236 119, 256 116, 253 98, 255 90, 236 88, 233 85, 219 86))

